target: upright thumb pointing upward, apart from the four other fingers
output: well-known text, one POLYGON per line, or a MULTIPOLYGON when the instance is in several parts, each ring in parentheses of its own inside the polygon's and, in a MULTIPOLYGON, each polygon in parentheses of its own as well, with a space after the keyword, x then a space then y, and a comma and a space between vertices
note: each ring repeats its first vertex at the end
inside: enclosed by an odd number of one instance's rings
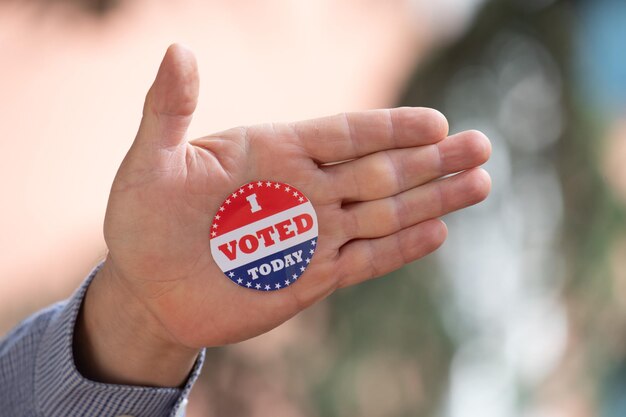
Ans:
POLYGON ((171 45, 150 87, 135 145, 164 149, 185 142, 198 103, 198 64, 190 49, 171 45))

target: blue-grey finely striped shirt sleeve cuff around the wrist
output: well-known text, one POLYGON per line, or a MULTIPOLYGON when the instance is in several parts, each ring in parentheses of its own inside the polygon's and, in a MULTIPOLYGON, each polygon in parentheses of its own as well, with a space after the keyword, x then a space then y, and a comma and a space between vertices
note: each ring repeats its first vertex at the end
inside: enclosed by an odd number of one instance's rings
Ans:
POLYGON ((204 351, 182 389, 103 384, 78 373, 72 356, 74 324, 97 271, 69 300, 36 313, 0 341, 0 416, 183 415, 204 351))

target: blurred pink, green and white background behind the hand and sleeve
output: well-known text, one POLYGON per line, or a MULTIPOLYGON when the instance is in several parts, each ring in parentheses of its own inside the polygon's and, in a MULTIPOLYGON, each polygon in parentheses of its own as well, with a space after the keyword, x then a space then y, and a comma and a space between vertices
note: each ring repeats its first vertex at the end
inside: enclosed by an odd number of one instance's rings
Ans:
POLYGON ((493 142, 447 243, 211 349, 188 415, 626 415, 623 0, 0 0, 0 334, 105 246, 160 59, 195 50, 191 137, 395 105, 493 142))

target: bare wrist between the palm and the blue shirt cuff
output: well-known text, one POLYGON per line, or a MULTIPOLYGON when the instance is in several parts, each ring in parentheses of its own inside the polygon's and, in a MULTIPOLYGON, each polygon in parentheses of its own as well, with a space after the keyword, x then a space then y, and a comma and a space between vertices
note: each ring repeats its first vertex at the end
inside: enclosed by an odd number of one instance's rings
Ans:
POLYGON ((181 386, 199 349, 177 343, 115 273, 109 258, 78 315, 74 357, 83 376, 105 383, 181 386))

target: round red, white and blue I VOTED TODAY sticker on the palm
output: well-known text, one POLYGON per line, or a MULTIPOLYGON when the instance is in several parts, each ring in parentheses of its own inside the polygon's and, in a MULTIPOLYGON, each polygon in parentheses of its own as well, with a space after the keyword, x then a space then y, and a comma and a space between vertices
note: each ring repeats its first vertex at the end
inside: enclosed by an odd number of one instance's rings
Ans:
POLYGON ((317 216, 295 187, 254 181, 235 190, 213 218, 215 263, 235 284, 259 291, 302 276, 317 245, 317 216))

